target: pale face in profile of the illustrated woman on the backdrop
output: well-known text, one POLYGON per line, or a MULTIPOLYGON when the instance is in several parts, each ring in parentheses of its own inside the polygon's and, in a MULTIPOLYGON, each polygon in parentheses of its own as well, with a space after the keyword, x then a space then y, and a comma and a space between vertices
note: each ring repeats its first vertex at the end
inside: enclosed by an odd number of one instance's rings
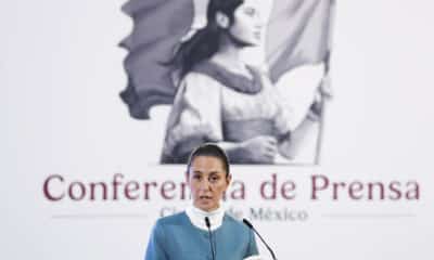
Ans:
POLYGON ((253 0, 245 0, 235 10, 233 24, 229 34, 246 46, 257 46, 261 42, 263 25, 259 8, 253 0))

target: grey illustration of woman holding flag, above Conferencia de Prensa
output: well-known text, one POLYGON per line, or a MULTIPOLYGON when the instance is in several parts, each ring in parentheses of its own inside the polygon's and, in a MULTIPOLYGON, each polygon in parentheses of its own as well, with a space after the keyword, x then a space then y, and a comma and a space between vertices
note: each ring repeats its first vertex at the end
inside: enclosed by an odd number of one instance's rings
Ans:
POLYGON ((162 164, 218 143, 232 164, 318 164, 332 0, 130 0, 130 115, 169 105, 162 164))

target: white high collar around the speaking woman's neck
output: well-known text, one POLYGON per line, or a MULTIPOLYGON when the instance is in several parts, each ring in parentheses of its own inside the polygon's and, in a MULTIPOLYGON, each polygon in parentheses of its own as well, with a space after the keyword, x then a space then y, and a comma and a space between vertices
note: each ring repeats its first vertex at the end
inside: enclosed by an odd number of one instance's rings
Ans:
POLYGON ((205 217, 208 217, 210 222, 210 230, 215 231, 220 227, 224 221, 225 209, 220 206, 217 209, 208 212, 199 209, 192 205, 186 209, 186 213, 194 226, 204 231, 208 231, 208 227, 205 224, 205 217))

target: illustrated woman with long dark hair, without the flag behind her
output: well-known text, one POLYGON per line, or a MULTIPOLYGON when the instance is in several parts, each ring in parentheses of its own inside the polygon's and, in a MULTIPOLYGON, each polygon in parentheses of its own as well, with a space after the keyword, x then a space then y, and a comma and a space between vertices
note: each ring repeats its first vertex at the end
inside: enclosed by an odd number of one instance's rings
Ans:
POLYGON ((297 122, 268 77, 241 60, 261 42, 254 0, 210 0, 207 24, 171 61, 180 83, 163 147, 163 164, 184 164, 193 147, 218 143, 235 164, 272 164, 289 157, 297 122))

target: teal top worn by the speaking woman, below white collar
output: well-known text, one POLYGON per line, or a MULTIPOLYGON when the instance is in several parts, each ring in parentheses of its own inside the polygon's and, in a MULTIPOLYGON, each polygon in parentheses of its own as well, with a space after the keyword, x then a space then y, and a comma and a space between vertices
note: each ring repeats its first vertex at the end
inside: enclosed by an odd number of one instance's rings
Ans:
MULTIPOLYGON (((225 213, 221 226, 212 232, 215 260, 242 260, 258 255, 254 233, 225 213)), ((159 219, 150 237, 144 260, 213 259, 208 231, 190 222, 186 212, 159 219)))

